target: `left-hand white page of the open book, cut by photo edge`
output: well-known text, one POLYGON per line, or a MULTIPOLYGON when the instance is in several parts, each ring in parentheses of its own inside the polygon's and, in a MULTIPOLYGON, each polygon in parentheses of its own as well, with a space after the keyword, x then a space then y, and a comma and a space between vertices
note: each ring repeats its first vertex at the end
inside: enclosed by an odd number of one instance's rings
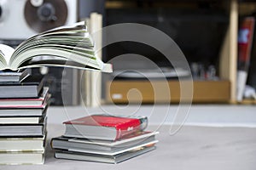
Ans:
POLYGON ((12 54, 15 52, 14 48, 8 45, 0 44, 0 67, 6 68, 9 65, 9 60, 12 54))

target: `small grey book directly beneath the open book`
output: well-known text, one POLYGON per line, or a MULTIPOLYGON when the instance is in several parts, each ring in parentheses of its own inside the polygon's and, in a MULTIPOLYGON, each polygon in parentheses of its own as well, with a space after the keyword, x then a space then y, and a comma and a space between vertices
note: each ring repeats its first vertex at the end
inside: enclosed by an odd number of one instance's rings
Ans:
POLYGON ((29 77, 30 71, 27 69, 20 71, 0 71, 0 82, 21 82, 29 77))

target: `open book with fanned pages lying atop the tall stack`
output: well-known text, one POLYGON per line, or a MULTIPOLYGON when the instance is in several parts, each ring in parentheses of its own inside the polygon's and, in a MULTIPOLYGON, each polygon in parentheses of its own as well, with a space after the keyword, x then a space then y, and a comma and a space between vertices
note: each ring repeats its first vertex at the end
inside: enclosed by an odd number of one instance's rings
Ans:
POLYGON ((0 44, 0 70, 16 71, 42 66, 112 72, 112 65, 104 64, 97 58, 84 21, 44 31, 28 38, 15 49, 0 44))

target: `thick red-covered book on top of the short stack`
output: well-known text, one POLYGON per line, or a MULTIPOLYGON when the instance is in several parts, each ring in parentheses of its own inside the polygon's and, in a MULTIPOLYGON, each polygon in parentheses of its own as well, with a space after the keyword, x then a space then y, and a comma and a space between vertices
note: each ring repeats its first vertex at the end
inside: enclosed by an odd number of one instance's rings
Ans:
POLYGON ((92 115, 63 123, 66 137, 117 140, 145 129, 148 118, 92 115))

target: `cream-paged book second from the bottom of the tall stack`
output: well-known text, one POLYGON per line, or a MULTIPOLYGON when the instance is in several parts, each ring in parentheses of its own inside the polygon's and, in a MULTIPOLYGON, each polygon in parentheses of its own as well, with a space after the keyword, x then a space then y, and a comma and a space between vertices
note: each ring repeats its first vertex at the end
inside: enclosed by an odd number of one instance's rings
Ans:
POLYGON ((44 150, 46 135, 39 138, 0 138, 0 152, 44 150))

